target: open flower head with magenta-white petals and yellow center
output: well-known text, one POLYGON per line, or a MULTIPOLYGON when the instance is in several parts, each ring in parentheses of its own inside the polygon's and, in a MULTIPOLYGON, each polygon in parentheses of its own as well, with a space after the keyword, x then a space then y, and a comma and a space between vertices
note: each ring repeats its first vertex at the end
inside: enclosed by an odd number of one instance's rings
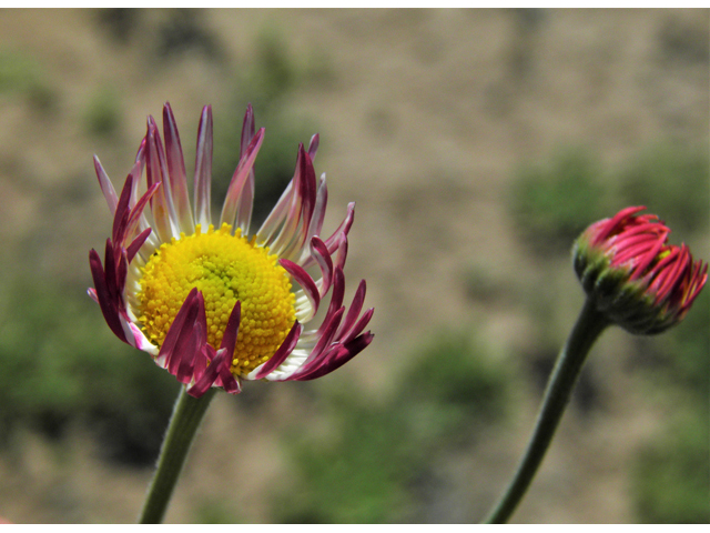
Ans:
POLYGON ((211 224, 212 108, 202 110, 191 209, 178 127, 163 108, 163 144, 158 125, 148 133, 118 195, 94 157, 99 185, 113 214, 103 263, 89 254, 93 289, 113 333, 151 354, 186 385, 193 396, 211 386, 229 393, 241 380, 312 380, 345 364, 365 349, 373 309, 361 314, 362 280, 349 309, 343 305, 347 234, 354 204, 327 239, 321 237, 327 189, 316 182, 313 160, 298 147, 296 170, 281 199, 255 233, 250 233, 254 160, 264 129, 254 131, 246 109, 241 157, 219 227, 211 224), (139 194, 145 170, 145 192, 139 194), (306 269, 315 268, 317 275, 306 269), (300 288, 292 289, 295 282, 300 288), (305 329, 331 293, 325 315, 305 329))

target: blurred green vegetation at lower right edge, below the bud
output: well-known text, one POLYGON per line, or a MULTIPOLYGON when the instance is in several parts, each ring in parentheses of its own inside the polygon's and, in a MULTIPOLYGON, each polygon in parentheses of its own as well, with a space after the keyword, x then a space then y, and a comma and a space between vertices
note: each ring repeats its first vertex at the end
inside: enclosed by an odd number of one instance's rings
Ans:
POLYGON ((669 334, 645 339, 649 386, 671 406, 668 425, 633 465, 636 503, 646 523, 710 522, 710 293, 703 291, 669 334), (655 341, 653 344, 652 341, 655 341))

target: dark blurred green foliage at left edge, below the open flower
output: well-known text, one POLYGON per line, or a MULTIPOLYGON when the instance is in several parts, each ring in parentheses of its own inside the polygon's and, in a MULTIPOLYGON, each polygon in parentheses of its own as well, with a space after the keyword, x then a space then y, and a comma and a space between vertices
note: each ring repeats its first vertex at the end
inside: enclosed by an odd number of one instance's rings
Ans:
POLYGON ((79 422, 109 457, 154 460, 178 385, 113 336, 82 289, 20 281, 0 316, 0 434, 28 424, 59 438, 79 422))

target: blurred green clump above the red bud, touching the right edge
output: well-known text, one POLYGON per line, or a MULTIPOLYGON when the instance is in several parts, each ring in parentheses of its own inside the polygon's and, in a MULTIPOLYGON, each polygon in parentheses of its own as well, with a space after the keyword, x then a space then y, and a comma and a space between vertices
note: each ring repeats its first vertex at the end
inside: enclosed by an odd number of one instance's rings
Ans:
POLYGON ((615 179, 629 205, 646 205, 678 233, 704 230, 710 205, 708 148, 689 149, 670 142, 642 150, 615 179))

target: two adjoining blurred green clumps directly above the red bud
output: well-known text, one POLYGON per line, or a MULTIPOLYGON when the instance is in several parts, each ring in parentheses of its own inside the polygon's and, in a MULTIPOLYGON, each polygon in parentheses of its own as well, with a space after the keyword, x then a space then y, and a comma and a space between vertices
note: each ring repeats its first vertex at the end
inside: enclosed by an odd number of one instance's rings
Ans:
POLYGON ((517 171, 508 210, 520 241, 544 257, 568 253, 591 222, 626 205, 646 205, 678 233, 702 231, 710 205, 708 149, 651 144, 618 168, 588 149, 558 150, 517 171))

